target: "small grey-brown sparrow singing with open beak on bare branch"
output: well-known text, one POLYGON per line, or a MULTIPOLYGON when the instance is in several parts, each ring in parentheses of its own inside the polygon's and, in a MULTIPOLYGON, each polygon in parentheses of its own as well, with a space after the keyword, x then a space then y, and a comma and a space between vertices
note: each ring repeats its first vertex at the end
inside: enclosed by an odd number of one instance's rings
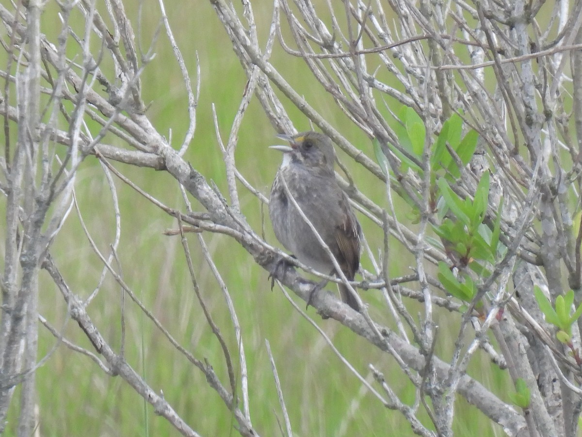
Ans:
MULTIPOLYGON (((269 196, 269 216, 275 237, 304 265, 328 276, 339 276, 328 252, 301 217, 299 206, 343 274, 352 281, 360 266, 361 227, 346 193, 336 181, 333 170, 336 154, 331 139, 314 131, 278 135, 278 138, 288 141, 289 146, 270 146, 283 152, 283 161, 269 196)), ((326 283, 314 288, 308 305, 313 293, 326 283)), ((345 284, 338 284, 338 287, 342 301, 359 312, 360 304, 352 292, 345 284)))

